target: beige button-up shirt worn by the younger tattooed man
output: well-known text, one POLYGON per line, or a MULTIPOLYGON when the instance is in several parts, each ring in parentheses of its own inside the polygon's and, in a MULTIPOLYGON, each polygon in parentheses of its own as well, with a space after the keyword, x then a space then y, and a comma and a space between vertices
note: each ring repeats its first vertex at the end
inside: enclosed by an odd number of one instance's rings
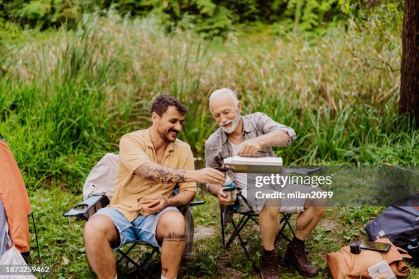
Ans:
MULTIPOLYGON (((143 207, 153 200, 152 196, 173 196, 175 187, 181 191, 196 191, 196 183, 158 183, 134 174, 144 163, 157 163, 155 150, 150 138, 150 129, 123 135, 119 142, 118 177, 116 190, 109 207, 121 211, 129 222, 138 214, 148 215, 143 207)), ((194 170, 194 157, 189 144, 176 139, 166 147, 161 163, 166 167, 194 170)))

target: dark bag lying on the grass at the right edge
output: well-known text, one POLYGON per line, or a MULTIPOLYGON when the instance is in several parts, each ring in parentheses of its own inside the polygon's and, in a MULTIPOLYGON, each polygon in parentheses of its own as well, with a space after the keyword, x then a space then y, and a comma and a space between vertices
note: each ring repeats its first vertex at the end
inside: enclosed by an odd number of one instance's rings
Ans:
POLYGON ((409 244, 409 237, 419 237, 419 194, 411 194, 391 204, 365 227, 370 241, 386 237, 399 247, 409 244))

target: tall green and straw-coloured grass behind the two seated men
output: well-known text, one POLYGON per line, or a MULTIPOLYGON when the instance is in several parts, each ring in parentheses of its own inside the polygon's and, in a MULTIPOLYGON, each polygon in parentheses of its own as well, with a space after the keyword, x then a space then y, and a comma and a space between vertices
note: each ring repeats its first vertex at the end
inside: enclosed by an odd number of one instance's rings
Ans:
POLYGON ((79 189, 105 152, 118 152, 121 135, 149 126, 159 94, 190 107, 180 137, 202 157, 216 128, 207 96, 220 87, 238 92, 245 114, 264 111, 296 130, 296 142, 277 150, 287 164, 418 165, 418 131, 396 111, 397 28, 371 18, 309 41, 205 41, 159 26, 87 16, 76 31, 3 43, 0 132, 29 187, 58 179, 79 189))

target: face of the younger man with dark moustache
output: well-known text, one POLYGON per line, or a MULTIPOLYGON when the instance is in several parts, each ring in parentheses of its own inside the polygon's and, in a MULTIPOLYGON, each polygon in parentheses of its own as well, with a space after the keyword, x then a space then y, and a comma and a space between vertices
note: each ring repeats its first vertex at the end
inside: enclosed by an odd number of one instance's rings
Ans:
POLYGON ((177 134, 182 130, 185 116, 180 114, 176 107, 169 106, 161 117, 153 112, 152 118, 157 124, 157 133, 164 142, 175 142, 177 134))

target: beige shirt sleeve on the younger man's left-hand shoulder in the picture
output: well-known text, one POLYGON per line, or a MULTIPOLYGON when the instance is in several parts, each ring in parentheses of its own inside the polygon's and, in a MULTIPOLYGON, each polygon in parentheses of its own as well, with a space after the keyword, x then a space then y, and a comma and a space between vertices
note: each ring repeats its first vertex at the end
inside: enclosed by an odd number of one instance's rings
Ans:
POLYGON ((130 170, 131 174, 144 163, 150 163, 151 160, 142 150, 142 144, 133 137, 124 135, 119 142, 119 161, 125 168, 130 170))

